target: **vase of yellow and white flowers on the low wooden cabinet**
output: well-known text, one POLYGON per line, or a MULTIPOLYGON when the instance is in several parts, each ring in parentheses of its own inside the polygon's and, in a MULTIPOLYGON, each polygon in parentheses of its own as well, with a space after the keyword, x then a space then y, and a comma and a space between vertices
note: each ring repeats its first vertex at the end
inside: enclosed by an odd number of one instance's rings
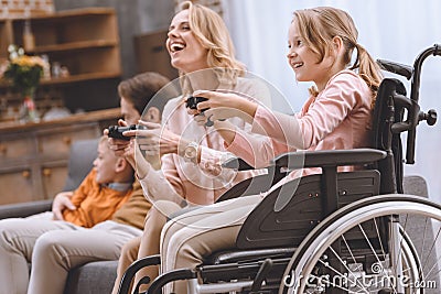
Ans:
POLYGON ((43 76, 45 62, 40 56, 26 55, 23 48, 15 45, 10 45, 8 52, 9 62, 3 77, 23 98, 20 119, 24 122, 37 122, 40 117, 35 108, 34 95, 43 76))

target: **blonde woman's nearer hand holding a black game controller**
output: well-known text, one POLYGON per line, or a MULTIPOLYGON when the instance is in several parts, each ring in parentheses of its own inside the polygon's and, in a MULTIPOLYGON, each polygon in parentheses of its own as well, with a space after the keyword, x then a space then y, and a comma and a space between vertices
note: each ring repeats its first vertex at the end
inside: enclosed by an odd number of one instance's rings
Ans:
POLYGON ((146 129, 126 131, 123 135, 137 137, 137 143, 146 155, 164 155, 178 153, 181 137, 162 128, 160 123, 139 120, 139 124, 146 129))

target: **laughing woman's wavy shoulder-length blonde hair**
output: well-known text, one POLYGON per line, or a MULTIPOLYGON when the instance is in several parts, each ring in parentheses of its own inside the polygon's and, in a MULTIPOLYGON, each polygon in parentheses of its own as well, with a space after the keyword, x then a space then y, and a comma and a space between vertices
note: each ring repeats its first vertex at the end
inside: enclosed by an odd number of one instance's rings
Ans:
MULTIPOLYGON (((237 76, 243 76, 245 66, 236 59, 235 48, 228 29, 215 11, 191 1, 181 4, 181 11, 189 10, 189 25, 195 37, 208 50, 207 64, 224 83, 235 83, 237 76)), ((185 75, 181 75, 184 94, 189 86, 185 75)))

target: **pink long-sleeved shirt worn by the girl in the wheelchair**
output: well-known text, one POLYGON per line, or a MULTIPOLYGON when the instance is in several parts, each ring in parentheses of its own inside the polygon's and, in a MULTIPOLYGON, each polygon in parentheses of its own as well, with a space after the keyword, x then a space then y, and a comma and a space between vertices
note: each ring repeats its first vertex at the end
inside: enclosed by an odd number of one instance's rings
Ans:
POLYGON ((366 83, 352 70, 342 70, 318 97, 311 96, 295 116, 259 106, 252 131, 268 133, 271 139, 259 142, 238 132, 227 150, 250 164, 266 166, 269 160, 288 151, 368 146, 372 100, 373 92, 366 83))

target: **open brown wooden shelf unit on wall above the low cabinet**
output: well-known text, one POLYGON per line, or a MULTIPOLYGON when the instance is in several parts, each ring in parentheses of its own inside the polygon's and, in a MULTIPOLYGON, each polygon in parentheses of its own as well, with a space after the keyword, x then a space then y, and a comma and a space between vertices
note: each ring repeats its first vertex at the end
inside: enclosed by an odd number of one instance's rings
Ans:
MULTIPOLYGON (((23 45, 26 19, 12 21, 13 43, 23 45)), ((72 10, 30 19, 35 46, 30 54, 47 54, 54 65, 66 66, 68 77, 42 80, 43 85, 119 77, 118 24, 106 8, 72 10)))

